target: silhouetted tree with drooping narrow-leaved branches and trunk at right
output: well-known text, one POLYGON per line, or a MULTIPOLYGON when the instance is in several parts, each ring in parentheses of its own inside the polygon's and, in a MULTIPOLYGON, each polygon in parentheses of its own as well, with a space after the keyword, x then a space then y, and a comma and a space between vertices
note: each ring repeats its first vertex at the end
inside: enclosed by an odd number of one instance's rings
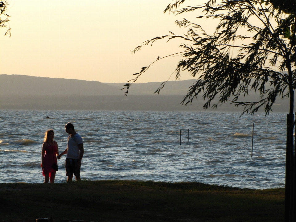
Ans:
MULTIPOLYGON (((156 40, 182 39, 182 59, 176 64, 175 77, 178 79, 181 71, 188 71, 197 77, 182 101, 185 105, 191 104, 201 95, 205 100, 205 109, 216 108, 217 105, 231 101, 236 106, 244 107, 242 114, 254 114, 262 107, 265 115, 268 115, 277 97, 290 98, 287 118, 285 221, 295 221, 296 155, 293 113, 296 88, 296 1, 211 0, 200 6, 180 8, 184 1, 173 1, 164 12, 196 12, 196 19, 216 19, 219 23, 214 33, 209 34, 198 23, 183 19, 176 21, 176 24, 187 28, 187 34, 175 35, 170 32, 145 41, 133 52, 145 45, 152 45, 156 40), (260 95, 259 101, 241 101, 241 97, 248 95, 250 91, 260 95), (218 103, 211 105, 215 97, 219 99, 218 103)), ((129 81, 131 83, 125 84, 125 95, 152 64, 143 67, 134 74, 136 77, 129 81)), ((154 93, 159 93, 165 83, 154 93)))

